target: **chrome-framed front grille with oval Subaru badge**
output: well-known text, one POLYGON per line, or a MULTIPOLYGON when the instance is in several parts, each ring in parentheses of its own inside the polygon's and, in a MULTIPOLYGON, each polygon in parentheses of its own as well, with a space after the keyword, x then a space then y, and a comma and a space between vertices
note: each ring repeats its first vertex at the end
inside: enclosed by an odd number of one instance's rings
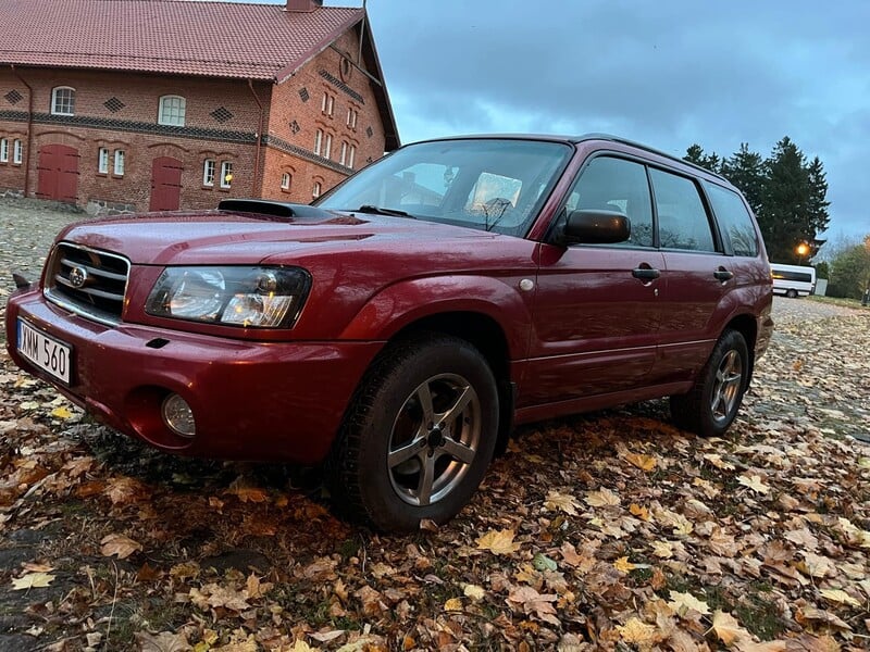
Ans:
POLYGON ((61 242, 51 254, 46 297, 102 324, 121 322, 129 261, 115 253, 61 242))

